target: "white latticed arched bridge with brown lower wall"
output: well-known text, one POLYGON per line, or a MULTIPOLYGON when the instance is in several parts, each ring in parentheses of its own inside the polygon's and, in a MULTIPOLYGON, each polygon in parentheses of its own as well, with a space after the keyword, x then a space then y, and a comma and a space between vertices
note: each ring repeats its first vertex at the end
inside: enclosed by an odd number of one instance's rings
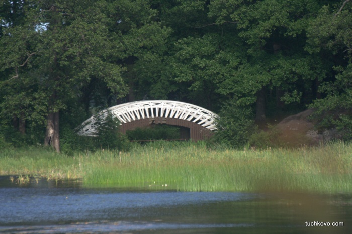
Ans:
MULTIPOLYGON (((180 126, 181 130, 189 129, 188 138, 194 141, 208 138, 215 130, 216 114, 197 105, 168 100, 135 101, 108 108, 120 122, 120 131, 147 127, 152 124, 180 126)), ((107 114, 103 110, 99 114, 107 114)), ((80 135, 96 136, 95 118, 92 116, 82 123, 80 135)), ((183 132, 183 131, 181 131, 183 132)), ((185 133, 183 134, 185 136, 185 133)))

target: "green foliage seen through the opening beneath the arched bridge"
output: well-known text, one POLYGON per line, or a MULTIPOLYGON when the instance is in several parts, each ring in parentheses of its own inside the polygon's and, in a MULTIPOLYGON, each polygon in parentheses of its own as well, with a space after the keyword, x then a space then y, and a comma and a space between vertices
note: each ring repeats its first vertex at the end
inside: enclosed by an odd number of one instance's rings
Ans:
POLYGON ((166 140, 180 139, 180 129, 175 126, 155 125, 153 128, 136 128, 127 130, 126 136, 129 140, 166 140))

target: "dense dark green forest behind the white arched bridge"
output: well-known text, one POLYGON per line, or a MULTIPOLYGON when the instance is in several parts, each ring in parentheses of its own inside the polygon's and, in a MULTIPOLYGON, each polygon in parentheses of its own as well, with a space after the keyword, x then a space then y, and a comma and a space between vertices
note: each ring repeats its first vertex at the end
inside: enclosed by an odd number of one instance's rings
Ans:
POLYGON ((0 142, 60 151, 97 111, 158 99, 219 113, 234 145, 307 108, 349 140, 351 62, 350 0, 2 0, 0 142))

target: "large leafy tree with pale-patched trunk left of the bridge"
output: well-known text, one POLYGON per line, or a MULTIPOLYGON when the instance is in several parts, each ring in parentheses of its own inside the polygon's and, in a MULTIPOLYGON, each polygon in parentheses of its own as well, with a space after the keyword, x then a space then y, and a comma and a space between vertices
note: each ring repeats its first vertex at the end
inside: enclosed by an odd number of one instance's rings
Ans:
POLYGON ((36 82, 38 88, 32 94, 40 100, 40 105, 34 112, 46 115, 44 144, 59 152, 59 116, 67 101, 80 95, 91 77, 103 80, 110 89, 123 95, 122 69, 107 59, 112 44, 104 24, 108 21, 105 2, 28 1, 26 4, 24 23, 8 25, 3 30, 0 43, 6 49, 1 67, 12 70, 4 82, 9 79, 36 82))

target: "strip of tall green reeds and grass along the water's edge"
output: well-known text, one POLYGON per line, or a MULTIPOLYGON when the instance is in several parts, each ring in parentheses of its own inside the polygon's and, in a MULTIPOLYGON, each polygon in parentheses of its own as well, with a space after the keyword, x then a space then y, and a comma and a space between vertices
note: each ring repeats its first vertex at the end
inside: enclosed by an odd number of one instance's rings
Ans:
POLYGON ((157 142, 121 154, 105 150, 74 156, 45 149, 5 150, 0 153, 0 173, 82 178, 87 187, 352 192, 352 144, 253 151, 157 142))

